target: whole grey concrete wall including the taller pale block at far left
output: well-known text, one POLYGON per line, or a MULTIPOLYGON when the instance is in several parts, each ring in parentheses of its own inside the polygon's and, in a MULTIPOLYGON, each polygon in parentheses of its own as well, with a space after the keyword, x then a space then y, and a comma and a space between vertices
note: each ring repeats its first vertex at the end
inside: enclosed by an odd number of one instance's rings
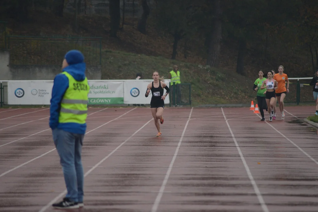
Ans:
MULTIPOLYGON (((1 80, 53 80, 61 72, 61 65, 10 65, 9 51, 0 51, 1 80)), ((89 80, 101 79, 100 65, 87 65, 86 77, 89 80)))

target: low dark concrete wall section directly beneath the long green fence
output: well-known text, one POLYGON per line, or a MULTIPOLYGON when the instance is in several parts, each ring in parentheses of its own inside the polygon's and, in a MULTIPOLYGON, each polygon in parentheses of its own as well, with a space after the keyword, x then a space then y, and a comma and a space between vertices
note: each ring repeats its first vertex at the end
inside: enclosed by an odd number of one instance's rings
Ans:
MULTIPOLYGON (((60 65, 10 65, 11 80, 53 80, 61 71, 60 65)), ((101 79, 101 66, 86 66, 86 77, 101 79)))

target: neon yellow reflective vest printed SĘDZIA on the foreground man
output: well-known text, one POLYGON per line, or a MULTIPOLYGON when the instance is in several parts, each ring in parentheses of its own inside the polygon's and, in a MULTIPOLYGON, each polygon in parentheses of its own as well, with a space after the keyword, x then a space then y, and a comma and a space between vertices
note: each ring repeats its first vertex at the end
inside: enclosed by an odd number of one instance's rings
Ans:
POLYGON ((87 104, 89 85, 87 78, 76 81, 67 72, 62 72, 68 78, 69 86, 61 101, 59 123, 85 124, 87 118, 87 104))

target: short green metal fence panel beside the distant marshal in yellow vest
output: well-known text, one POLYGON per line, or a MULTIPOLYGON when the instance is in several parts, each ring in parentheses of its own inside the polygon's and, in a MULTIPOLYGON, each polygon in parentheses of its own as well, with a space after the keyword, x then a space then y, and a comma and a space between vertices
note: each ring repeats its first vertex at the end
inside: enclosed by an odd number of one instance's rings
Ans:
POLYGON ((169 85, 170 106, 191 105, 191 84, 171 84, 169 85))

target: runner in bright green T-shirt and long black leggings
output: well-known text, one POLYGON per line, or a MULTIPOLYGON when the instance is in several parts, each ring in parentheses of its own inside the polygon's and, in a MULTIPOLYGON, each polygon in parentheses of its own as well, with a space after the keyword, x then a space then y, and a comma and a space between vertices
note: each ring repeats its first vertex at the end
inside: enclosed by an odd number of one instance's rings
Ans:
POLYGON ((263 109, 266 109, 266 99, 265 99, 266 94, 264 93, 266 91, 266 88, 260 89, 260 86, 262 85, 262 83, 266 81, 266 78, 264 78, 263 76, 264 76, 264 72, 260 70, 259 78, 255 80, 254 86, 253 86, 253 90, 257 91, 256 98, 257 98, 257 104, 259 107, 259 112, 262 116, 261 121, 265 121, 263 109))

